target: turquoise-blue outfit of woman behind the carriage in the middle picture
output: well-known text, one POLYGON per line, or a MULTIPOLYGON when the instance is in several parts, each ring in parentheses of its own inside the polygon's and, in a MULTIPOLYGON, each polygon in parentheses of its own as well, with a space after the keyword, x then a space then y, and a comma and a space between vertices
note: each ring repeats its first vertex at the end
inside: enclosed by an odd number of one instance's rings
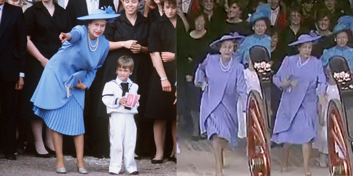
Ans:
POLYGON ((250 57, 250 49, 257 45, 264 46, 267 49, 269 56, 271 56, 271 37, 266 34, 263 34, 262 36, 252 34, 245 37, 244 41, 239 45, 238 51, 236 52, 239 62, 247 65, 250 57))

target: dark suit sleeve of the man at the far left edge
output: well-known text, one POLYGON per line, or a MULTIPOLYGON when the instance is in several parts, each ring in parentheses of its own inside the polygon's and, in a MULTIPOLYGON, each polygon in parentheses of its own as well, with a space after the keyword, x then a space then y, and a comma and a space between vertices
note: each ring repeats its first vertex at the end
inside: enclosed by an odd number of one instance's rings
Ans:
MULTIPOLYGON (((16 48, 18 51, 18 55, 20 58, 20 73, 24 73, 25 71, 25 54, 27 49, 27 34, 26 34, 26 26, 24 23, 24 15, 22 12, 22 8, 17 8, 17 21, 16 21, 16 48)), ((18 75, 19 76, 19 75, 18 75)))

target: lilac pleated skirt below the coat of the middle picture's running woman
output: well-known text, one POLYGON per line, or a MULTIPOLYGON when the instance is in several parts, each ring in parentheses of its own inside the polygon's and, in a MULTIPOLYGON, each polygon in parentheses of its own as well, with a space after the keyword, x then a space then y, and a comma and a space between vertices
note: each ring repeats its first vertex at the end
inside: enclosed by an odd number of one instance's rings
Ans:
POLYGON ((231 146, 238 144, 238 118, 232 117, 228 109, 220 103, 209 115, 205 122, 207 137, 217 134, 219 138, 226 139, 231 146))

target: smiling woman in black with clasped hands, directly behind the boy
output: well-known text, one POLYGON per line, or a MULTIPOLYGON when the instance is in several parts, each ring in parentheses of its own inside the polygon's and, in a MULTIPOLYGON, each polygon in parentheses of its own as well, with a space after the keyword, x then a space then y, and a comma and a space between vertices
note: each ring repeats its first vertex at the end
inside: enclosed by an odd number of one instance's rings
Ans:
MULTIPOLYGON (((141 3, 141 0, 125 0, 122 3, 124 10, 120 12, 120 16, 115 18, 114 22, 110 24, 109 27, 104 31, 104 36, 110 42, 118 42, 120 46, 118 49, 109 51, 109 54, 104 61, 104 64, 100 70, 97 71, 97 76, 95 78, 94 83, 92 84, 91 89, 91 97, 95 105, 93 108, 97 109, 97 112, 93 112, 95 114, 96 120, 94 120, 95 124, 103 119, 108 119, 107 108, 103 104, 101 100, 101 95, 103 92, 103 88, 106 82, 110 80, 114 80, 116 78, 116 68, 115 63, 116 60, 121 56, 130 56, 134 62, 134 69, 132 75, 130 75, 130 79, 132 82, 136 82, 139 86, 138 94, 141 95, 139 100, 140 106, 138 108, 138 115, 135 118, 143 117, 141 115, 144 114, 145 106, 146 106, 146 97, 147 89, 148 89, 148 81, 150 78, 149 70, 150 70, 150 57, 147 52, 147 44, 148 44, 148 34, 149 34, 149 25, 147 18, 144 17, 139 11, 138 7, 141 3), (100 93, 98 93, 100 92, 100 93), (97 107, 98 106, 98 107, 97 107)), ((106 120, 103 120, 102 123, 104 127, 98 125, 92 125, 95 133, 97 134, 105 134, 107 133, 107 123, 106 120)), ((141 125, 137 122, 137 134, 139 134, 141 130, 141 125)), ((106 136, 99 136, 97 134, 94 135, 94 141, 96 142, 104 142, 109 144, 108 134, 106 136), (102 140, 102 138, 105 138, 102 140)), ((139 140, 139 139, 138 139, 139 140)), ((101 149, 96 149, 100 150, 101 149)), ((109 145, 107 146, 107 150, 109 151, 109 145)), ((107 150, 103 150, 99 153, 106 154, 107 150)), ((135 154, 135 159, 140 159, 135 154)))

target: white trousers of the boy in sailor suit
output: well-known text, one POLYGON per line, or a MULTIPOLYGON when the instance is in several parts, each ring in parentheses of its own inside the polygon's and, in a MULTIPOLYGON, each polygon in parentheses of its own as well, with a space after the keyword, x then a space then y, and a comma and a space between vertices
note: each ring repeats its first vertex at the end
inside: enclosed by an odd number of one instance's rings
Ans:
POLYGON ((113 112, 109 118, 110 124, 110 163, 109 172, 119 174, 122 158, 124 158, 125 173, 137 171, 134 159, 136 145, 136 124, 133 114, 113 112))

